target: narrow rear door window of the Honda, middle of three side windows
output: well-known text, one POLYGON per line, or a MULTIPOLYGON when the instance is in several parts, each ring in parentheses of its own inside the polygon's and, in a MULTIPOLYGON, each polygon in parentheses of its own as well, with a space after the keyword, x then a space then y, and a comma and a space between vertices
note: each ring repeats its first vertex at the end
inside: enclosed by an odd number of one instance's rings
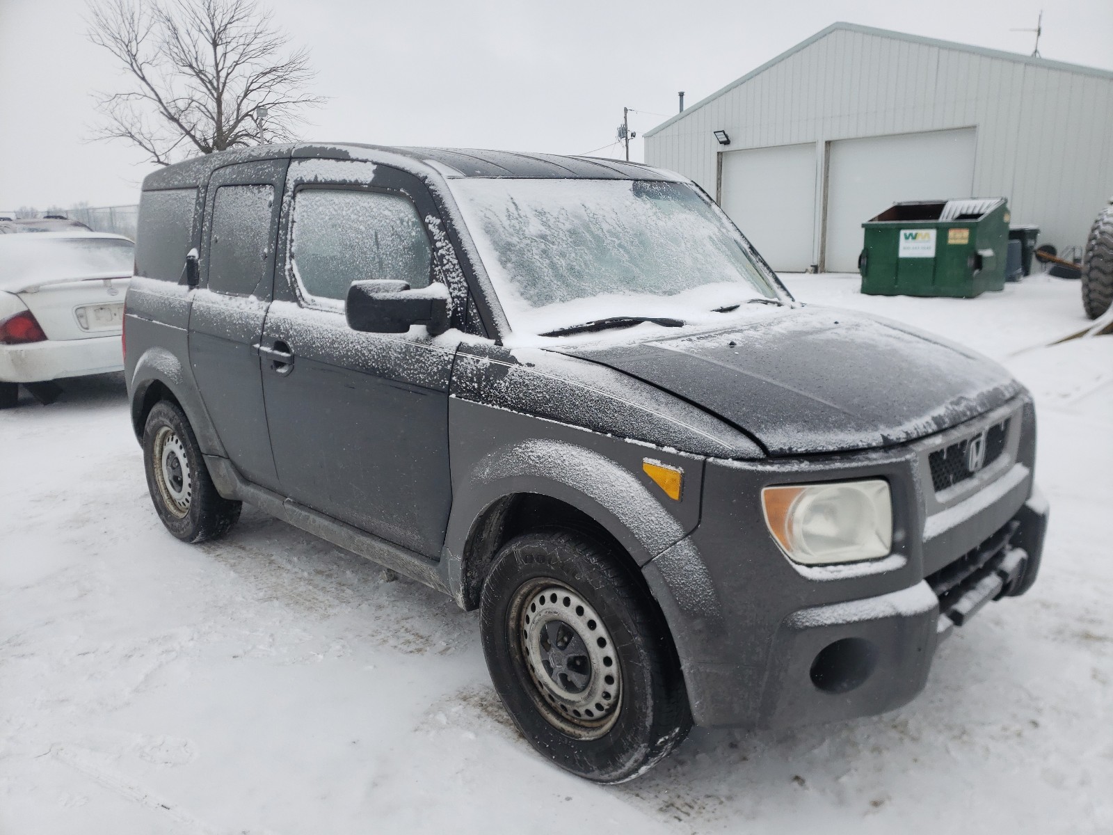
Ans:
POLYGON ((208 288, 247 296, 270 263, 274 186, 220 186, 213 202, 208 288))

